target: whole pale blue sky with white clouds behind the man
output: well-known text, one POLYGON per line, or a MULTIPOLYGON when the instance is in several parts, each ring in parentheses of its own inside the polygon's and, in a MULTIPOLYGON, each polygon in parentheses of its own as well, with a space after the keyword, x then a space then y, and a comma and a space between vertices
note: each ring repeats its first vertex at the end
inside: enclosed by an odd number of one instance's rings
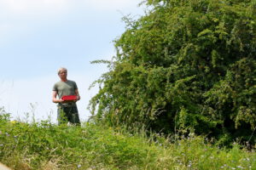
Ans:
POLYGON ((111 59, 113 40, 125 31, 123 15, 143 14, 141 0, 0 0, 0 107, 13 118, 34 113, 37 120, 50 115, 56 71, 64 66, 68 79, 77 82, 82 120, 90 116, 89 99, 97 88, 90 83, 105 65, 95 59, 111 59))

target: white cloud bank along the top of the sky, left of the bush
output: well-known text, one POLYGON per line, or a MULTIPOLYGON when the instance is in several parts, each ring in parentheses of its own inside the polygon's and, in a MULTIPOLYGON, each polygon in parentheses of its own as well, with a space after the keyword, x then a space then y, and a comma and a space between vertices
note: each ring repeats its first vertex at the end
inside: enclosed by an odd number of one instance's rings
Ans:
POLYGON ((0 0, 1 41, 36 32, 42 27, 54 28, 66 20, 83 18, 91 22, 102 18, 99 16, 119 15, 118 10, 124 14, 141 14, 142 10, 137 8, 140 2, 141 0, 0 0))

